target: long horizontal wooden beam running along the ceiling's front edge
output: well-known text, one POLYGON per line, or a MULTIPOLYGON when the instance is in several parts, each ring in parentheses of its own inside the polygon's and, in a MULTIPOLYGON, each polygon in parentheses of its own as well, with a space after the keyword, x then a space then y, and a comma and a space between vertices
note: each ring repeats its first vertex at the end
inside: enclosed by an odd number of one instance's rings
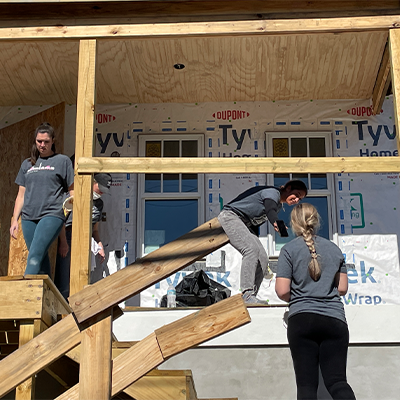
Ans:
POLYGON ((399 26, 400 15, 159 24, 57 25, 1 28, 0 40, 284 35, 388 30, 399 26))

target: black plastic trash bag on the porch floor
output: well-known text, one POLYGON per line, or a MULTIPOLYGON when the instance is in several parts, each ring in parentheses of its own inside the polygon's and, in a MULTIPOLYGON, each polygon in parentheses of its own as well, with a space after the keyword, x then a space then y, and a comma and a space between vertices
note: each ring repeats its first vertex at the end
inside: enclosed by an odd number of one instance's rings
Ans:
MULTIPOLYGON (((210 279, 203 270, 185 276, 175 290, 177 307, 209 306, 231 295, 226 286, 210 279)), ((167 307, 167 295, 162 297, 160 307, 167 307)))

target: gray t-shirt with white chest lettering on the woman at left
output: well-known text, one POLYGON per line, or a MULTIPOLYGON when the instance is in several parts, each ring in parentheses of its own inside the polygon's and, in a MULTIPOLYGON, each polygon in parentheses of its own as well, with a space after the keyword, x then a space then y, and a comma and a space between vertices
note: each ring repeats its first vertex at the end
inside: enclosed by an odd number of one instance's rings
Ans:
POLYGON ((73 182, 71 160, 63 154, 39 157, 34 166, 30 159, 24 160, 15 179, 17 185, 25 187, 21 218, 34 221, 54 216, 64 220, 62 204, 73 182))

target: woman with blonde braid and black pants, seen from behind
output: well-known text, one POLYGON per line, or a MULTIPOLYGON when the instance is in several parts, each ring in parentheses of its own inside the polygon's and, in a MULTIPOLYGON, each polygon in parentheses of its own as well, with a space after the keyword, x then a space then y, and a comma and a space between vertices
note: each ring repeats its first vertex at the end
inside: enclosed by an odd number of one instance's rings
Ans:
POLYGON ((317 236, 319 219, 311 204, 293 208, 297 238, 281 249, 275 291, 289 302, 287 335, 297 399, 317 399, 320 367, 333 399, 354 400, 346 377, 349 331, 340 299, 347 292, 347 269, 341 250, 317 236))

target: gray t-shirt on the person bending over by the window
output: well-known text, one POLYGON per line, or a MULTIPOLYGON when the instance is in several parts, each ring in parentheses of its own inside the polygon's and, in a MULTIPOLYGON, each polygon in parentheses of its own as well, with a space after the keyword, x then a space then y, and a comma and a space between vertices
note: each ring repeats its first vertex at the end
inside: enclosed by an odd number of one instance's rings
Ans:
MULTIPOLYGON (((247 218, 252 225, 259 226, 267 221, 264 200, 270 199, 277 204, 277 212, 282 208, 280 192, 272 186, 252 187, 225 205, 225 209, 232 210, 239 216, 247 218)), ((272 221, 275 222, 275 221, 272 221)))

